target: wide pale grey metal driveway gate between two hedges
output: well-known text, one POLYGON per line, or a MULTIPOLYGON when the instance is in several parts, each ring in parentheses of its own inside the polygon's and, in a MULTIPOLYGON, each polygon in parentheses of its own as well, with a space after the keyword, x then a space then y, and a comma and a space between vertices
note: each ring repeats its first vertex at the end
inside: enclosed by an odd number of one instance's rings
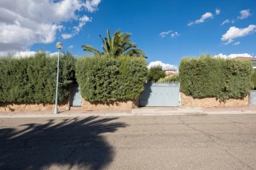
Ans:
POLYGON ((139 106, 180 106, 180 84, 146 83, 139 106))

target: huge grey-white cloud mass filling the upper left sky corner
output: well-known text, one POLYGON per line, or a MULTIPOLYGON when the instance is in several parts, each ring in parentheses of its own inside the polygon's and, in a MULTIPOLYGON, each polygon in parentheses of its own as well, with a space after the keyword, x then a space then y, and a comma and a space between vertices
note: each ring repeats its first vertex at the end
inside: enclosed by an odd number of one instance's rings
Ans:
MULTIPOLYGON (((78 22, 73 28, 78 33, 87 16, 79 12, 95 11, 100 0, 1 0, 0 1, 0 52, 26 51, 35 43, 51 43, 65 30, 68 21, 78 22)), ((68 38, 65 33, 63 38, 68 38)))

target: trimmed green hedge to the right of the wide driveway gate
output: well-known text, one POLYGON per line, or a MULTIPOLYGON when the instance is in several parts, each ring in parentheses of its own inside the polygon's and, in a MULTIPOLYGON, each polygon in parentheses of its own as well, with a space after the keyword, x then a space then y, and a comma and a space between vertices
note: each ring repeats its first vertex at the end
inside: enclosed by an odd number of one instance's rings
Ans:
POLYGON ((250 61, 225 60, 203 55, 183 58, 179 66, 181 91, 194 98, 244 98, 251 88, 250 61))

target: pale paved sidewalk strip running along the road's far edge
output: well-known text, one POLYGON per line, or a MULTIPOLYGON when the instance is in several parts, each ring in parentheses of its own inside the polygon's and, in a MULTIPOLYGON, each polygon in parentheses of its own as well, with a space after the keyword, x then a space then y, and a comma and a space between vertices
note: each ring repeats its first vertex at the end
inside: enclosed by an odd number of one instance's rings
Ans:
POLYGON ((219 108, 185 108, 185 107, 145 107, 127 111, 53 111, 0 112, 0 118, 47 118, 47 117, 88 117, 130 116, 130 115, 207 115, 207 114, 255 114, 256 106, 219 107, 219 108))

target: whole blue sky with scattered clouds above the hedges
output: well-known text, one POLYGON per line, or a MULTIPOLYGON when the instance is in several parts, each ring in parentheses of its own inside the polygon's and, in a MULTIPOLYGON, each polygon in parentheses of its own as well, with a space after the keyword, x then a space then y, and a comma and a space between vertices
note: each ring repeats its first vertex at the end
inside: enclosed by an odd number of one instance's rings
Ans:
POLYGON ((105 36, 110 28, 111 34, 132 33, 149 63, 178 65, 182 57, 204 53, 256 56, 255 0, 42 0, 39 5, 36 0, 14 1, 17 6, 0 2, 5 9, 0 10, 2 54, 39 48, 55 52, 60 41, 63 50, 83 56, 81 45, 101 50, 99 34, 105 36), (7 11, 16 15, 11 18, 7 11), (10 33, 18 38, 11 39, 10 33))

